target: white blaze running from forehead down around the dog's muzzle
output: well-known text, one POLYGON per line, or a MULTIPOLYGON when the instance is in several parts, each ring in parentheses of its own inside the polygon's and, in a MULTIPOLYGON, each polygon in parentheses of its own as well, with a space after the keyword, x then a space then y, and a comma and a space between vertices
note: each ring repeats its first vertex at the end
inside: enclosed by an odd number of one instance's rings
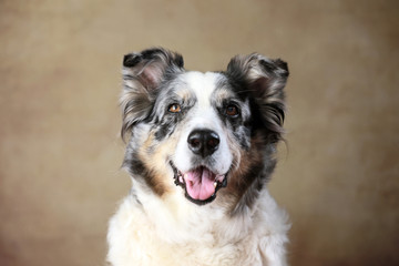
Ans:
POLYGON ((215 174, 222 175, 226 174, 232 165, 233 156, 227 145, 226 132, 217 114, 217 110, 212 106, 211 102, 213 92, 217 85, 217 80, 221 78, 221 74, 212 72, 187 72, 182 76, 187 89, 194 92, 197 100, 195 105, 186 114, 188 121, 186 121, 182 137, 178 140, 174 156, 174 163, 182 172, 190 171, 197 166, 192 165, 195 154, 188 149, 187 137, 191 132, 198 129, 214 131, 219 136, 219 146, 217 151, 211 155, 214 165, 205 166, 212 166, 212 171, 215 172, 215 174))

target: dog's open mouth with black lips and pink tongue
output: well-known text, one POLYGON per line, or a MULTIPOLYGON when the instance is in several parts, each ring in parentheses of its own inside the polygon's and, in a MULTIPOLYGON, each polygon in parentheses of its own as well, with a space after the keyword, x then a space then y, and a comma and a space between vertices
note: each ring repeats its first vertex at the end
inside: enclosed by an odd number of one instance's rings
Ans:
POLYGON ((227 186, 227 173, 216 174, 201 165, 187 172, 180 171, 173 162, 174 183, 184 190, 185 197, 197 205, 205 205, 216 198, 216 193, 227 186))

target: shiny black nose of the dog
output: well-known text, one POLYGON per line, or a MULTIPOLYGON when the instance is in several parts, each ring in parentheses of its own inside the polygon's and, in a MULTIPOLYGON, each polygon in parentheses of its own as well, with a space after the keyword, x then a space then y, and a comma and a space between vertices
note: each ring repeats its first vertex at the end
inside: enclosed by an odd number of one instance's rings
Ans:
POLYGON ((188 147, 193 153, 206 157, 218 149, 221 140, 214 131, 194 130, 190 133, 187 142, 188 147))

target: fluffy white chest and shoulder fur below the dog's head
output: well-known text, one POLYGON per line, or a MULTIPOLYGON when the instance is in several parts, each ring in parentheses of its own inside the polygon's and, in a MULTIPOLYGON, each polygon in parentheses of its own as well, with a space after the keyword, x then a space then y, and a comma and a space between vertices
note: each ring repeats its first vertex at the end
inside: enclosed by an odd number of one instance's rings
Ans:
POLYGON ((114 266, 287 265, 287 216, 266 190, 253 211, 236 217, 217 205, 136 192, 142 204, 127 196, 110 222, 108 259, 114 266))

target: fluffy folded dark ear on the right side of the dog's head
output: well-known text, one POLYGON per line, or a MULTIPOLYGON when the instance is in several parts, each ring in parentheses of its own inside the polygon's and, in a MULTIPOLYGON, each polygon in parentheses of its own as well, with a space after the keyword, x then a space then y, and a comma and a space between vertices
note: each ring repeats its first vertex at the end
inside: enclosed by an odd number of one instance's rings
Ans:
POLYGON ((284 133, 284 86, 289 74, 287 63, 258 53, 237 55, 228 63, 226 73, 237 82, 241 90, 250 92, 254 103, 260 110, 256 122, 270 133, 272 142, 279 141, 284 133))

